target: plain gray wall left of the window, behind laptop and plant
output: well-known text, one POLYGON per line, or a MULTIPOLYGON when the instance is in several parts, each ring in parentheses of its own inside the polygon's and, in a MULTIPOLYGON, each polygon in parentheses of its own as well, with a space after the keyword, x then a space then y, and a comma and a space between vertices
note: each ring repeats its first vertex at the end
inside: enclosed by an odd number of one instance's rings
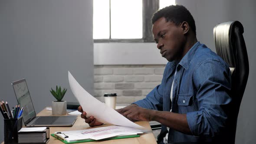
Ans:
MULTIPOLYGON (((26 78, 36 112, 68 88, 68 70, 93 92, 92 0, 0 0, 0 100, 17 103, 11 82, 26 78)), ((3 118, 0 116, 0 142, 3 118)))

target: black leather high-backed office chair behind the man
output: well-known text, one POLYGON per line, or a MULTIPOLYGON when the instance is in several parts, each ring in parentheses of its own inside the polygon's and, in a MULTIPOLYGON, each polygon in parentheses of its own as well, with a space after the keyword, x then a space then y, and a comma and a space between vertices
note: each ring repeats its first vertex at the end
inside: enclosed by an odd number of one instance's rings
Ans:
POLYGON ((230 66, 232 75, 231 88, 231 124, 228 132, 235 143, 236 123, 243 93, 249 75, 249 62, 243 39, 243 25, 239 21, 220 23, 213 29, 217 54, 230 66))

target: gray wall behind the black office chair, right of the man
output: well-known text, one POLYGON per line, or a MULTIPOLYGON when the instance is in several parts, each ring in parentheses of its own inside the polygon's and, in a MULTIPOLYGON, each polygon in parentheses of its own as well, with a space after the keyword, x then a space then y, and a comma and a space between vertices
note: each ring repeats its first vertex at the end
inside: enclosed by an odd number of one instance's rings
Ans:
POLYGON ((244 39, 249 57, 249 78, 240 106, 236 129, 236 144, 255 144, 256 141, 256 49, 255 0, 176 0, 194 16, 197 39, 216 51, 213 27, 225 21, 238 20, 244 27, 244 39))

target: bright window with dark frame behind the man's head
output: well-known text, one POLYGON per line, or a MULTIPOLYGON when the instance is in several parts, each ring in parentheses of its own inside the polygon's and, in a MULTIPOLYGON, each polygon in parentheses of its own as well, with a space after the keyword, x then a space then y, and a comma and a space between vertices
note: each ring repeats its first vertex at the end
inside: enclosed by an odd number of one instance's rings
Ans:
POLYGON ((101 42, 154 42, 151 16, 175 0, 93 0, 93 39, 101 42))

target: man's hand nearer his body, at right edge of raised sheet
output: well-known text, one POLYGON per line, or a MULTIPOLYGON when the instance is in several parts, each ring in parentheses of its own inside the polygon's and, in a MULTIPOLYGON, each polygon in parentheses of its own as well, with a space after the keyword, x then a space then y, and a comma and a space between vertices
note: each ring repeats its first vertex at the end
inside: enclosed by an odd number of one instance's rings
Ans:
POLYGON ((154 110, 141 108, 135 104, 117 109, 116 111, 128 118, 130 121, 152 121, 155 113, 154 110))

